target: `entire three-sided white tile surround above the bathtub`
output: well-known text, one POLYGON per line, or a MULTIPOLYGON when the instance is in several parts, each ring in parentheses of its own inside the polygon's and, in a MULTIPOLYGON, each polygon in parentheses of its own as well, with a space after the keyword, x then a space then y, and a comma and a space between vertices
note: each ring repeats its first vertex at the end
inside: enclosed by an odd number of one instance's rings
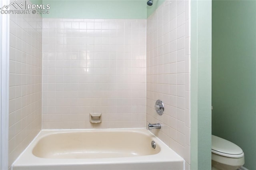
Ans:
POLYGON ((147 20, 20 17, 10 21, 9 164, 41 125, 160 123, 152 132, 190 169, 190 1, 166 0, 147 20))

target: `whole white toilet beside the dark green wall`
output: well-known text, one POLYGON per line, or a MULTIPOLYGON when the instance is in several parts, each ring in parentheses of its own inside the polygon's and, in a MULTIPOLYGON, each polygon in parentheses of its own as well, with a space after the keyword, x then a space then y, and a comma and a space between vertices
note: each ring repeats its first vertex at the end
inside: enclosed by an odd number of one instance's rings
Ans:
POLYGON ((212 135, 212 170, 236 170, 244 164, 244 152, 236 144, 212 135))

